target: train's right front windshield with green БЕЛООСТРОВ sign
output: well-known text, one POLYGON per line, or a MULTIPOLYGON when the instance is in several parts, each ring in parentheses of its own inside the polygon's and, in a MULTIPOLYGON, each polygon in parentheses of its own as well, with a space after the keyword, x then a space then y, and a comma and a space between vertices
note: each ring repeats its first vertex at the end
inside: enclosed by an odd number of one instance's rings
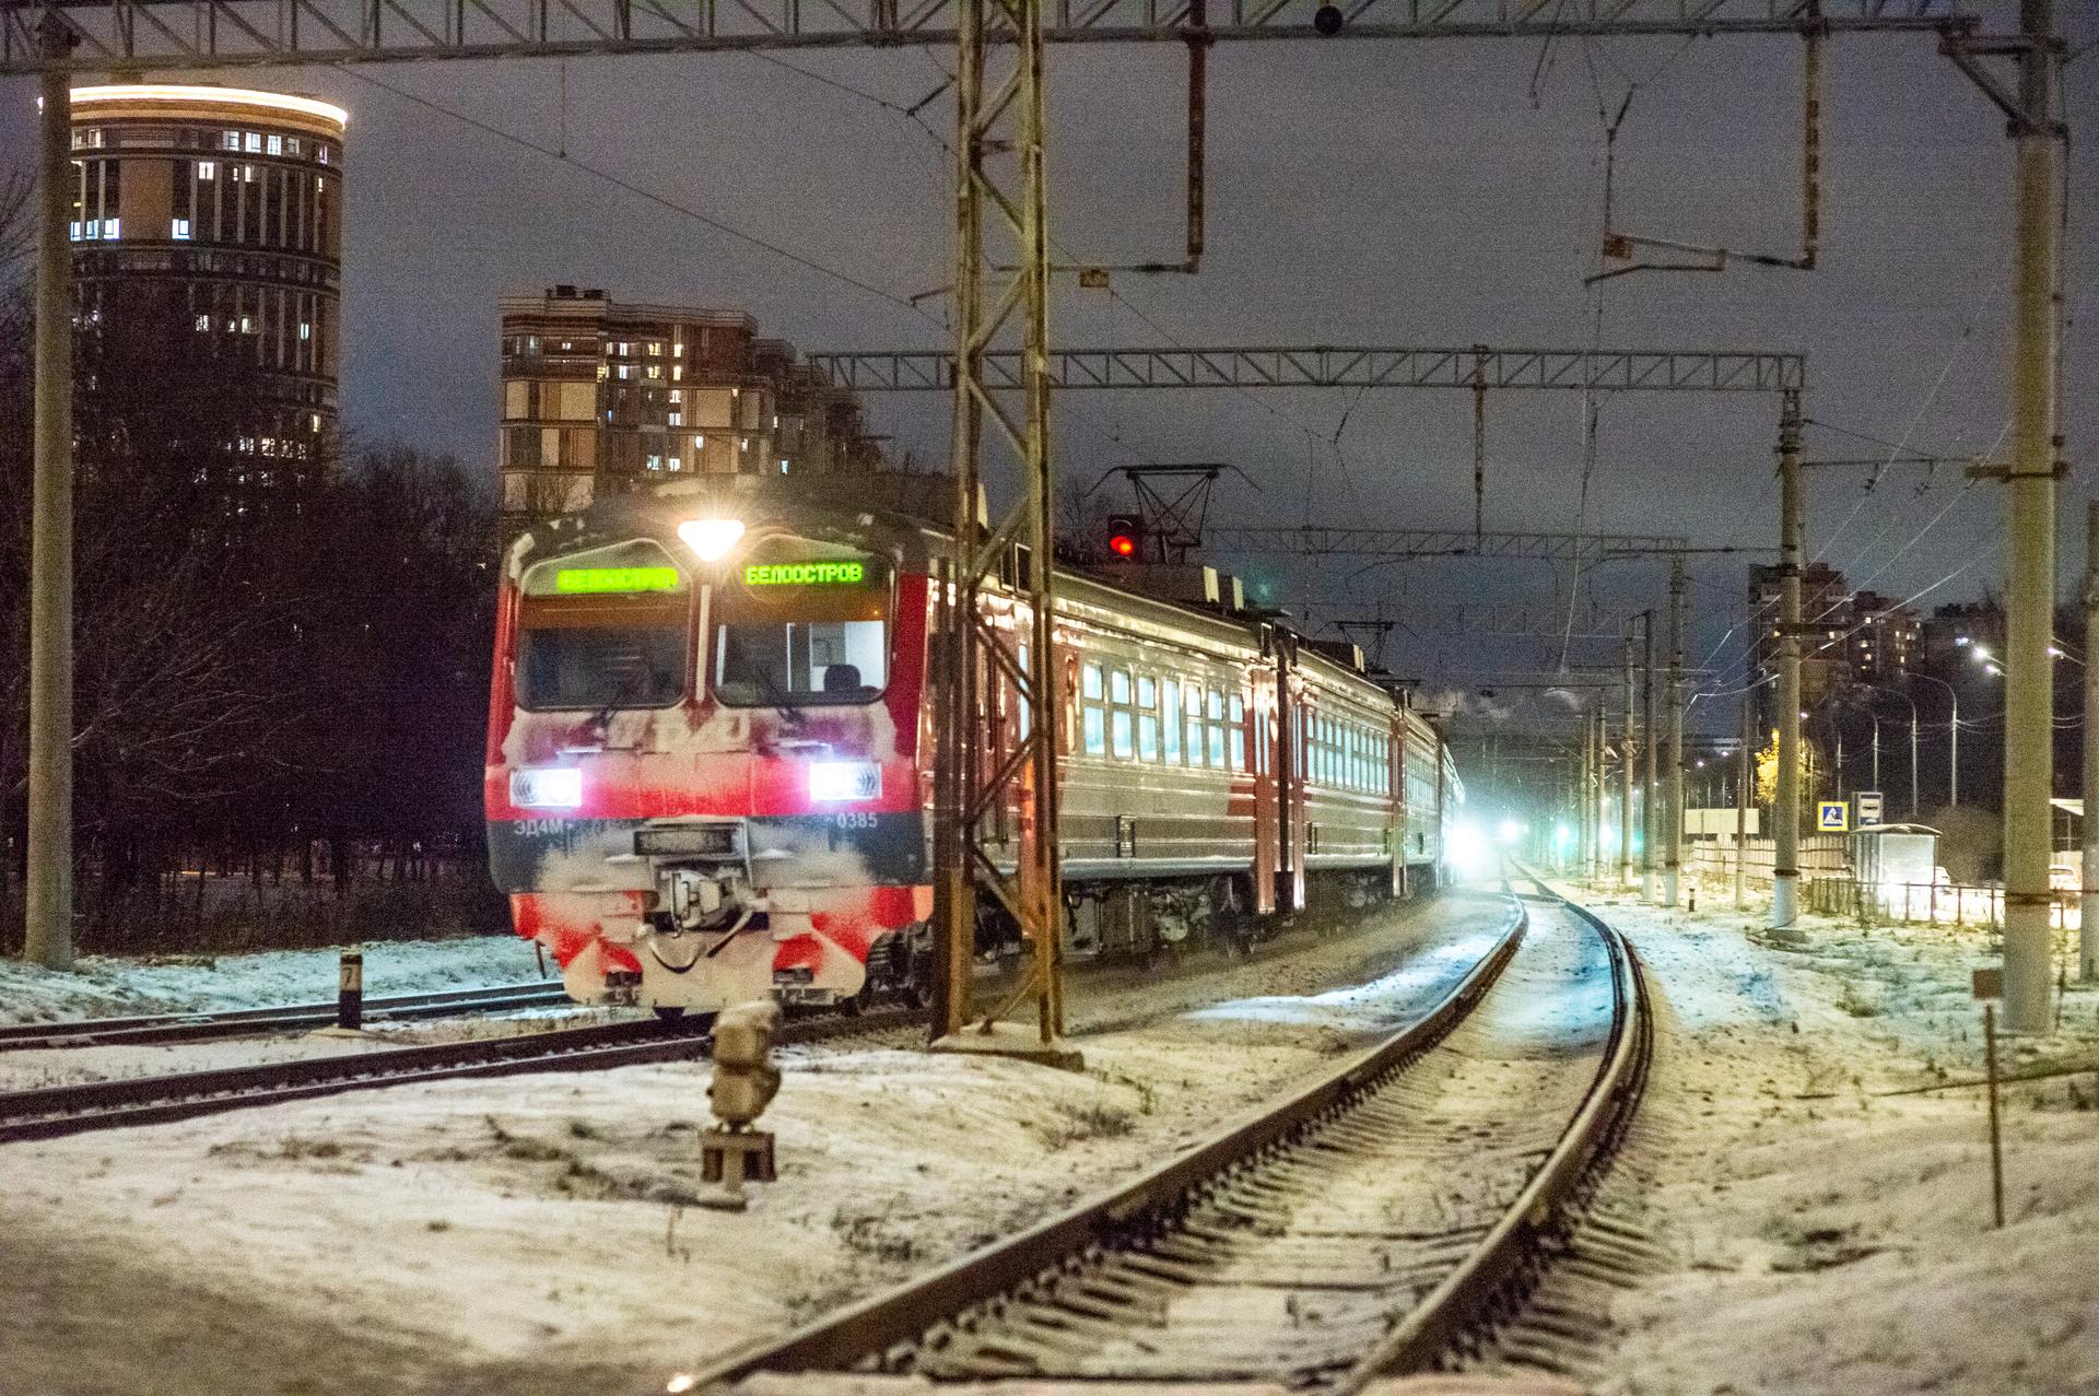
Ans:
POLYGON ((714 592, 714 697, 869 703, 888 686, 890 569, 819 544, 756 548, 714 592))

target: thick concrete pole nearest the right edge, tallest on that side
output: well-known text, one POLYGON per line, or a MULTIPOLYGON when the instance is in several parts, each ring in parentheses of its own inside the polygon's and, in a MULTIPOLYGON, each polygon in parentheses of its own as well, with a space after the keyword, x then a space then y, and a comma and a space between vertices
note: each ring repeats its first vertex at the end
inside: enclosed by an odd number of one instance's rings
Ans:
POLYGON ((2011 468, 2005 525, 2005 1031, 2047 1033, 2055 1018, 2049 838, 2055 682, 2057 323, 2061 313, 2061 147, 2055 115, 2061 40, 2051 0, 2021 0, 2019 267, 2013 309, 2011 468))

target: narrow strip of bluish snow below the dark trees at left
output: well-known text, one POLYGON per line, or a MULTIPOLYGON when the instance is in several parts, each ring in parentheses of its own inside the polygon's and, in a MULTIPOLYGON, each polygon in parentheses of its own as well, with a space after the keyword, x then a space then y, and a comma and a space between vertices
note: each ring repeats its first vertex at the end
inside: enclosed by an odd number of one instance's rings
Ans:
MULTIPOLYGON (((523 985, 544 978, 529 940, 449 936, 363 947, 365 993, 523 985)), ((115 1018, 319 1003, 336 997, 340 947, 225 955, 82 955, 69 972, 0 959, 0 1022, 115 1018)))

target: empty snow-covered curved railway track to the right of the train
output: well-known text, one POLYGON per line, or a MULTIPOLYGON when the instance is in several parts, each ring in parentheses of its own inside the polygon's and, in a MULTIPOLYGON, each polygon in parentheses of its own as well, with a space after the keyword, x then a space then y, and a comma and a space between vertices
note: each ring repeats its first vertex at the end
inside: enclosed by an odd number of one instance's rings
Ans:
POLYGON ((1539 1278, 1633 1247, 1587 1213, 1650 1022, 1616 930, 1543 884, 1518 907, 1427 1018, 1324 1081, 693 1386, 821 1390, 833 1371, 1356 1392, 1463 1360, 1553 1367, 1595 1323, 1526 1314, 1539 1278))

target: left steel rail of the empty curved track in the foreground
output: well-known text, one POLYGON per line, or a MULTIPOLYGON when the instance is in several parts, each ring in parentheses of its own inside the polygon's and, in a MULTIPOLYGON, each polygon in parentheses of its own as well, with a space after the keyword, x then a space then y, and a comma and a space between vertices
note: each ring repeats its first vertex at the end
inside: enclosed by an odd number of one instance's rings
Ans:
POLYGON ((938 1270, 848 1306, 781 1339, 760 1339, 695 1373, 686 1390, 737 1381, 758 1371, 844 1371, 911 1341, 942 1318, 995 1299, 1029 1278, 1108 1243, 1133 1224, 1184 1209, 1190 1194, 1236 1163, 1289 1144, 1327 1115, 1345 1111, 1387 1075, 1440 1043, 1492 989, 1515 955, 1528 913, 1515 903, 1509 930, 1427 1016, 1362 1052, 1308 1090, 1226 1127, 1203 1144, 1085 1201, 1018 1236, 972 1251, 938 1270))

